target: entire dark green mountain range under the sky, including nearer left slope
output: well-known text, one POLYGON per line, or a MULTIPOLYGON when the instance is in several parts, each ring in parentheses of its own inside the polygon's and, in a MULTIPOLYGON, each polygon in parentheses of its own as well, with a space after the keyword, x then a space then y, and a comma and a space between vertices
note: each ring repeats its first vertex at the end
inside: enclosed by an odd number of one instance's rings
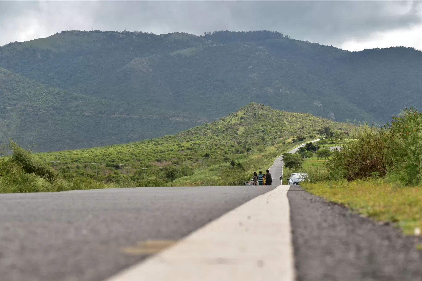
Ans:
POLYGON ((269 31, 63 31, 0 47, 0 67, 0 142, 39 151, 173 134, 250 102, 371 123, 422 105, 420 51, 349 52, 269 31))

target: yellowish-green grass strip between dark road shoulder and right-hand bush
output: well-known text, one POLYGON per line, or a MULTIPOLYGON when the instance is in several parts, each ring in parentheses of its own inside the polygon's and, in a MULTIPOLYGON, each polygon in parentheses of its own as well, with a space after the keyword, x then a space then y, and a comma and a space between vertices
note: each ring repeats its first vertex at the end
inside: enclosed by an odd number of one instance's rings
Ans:
POLYGON ((304 182, 301 186, 327 201, 343 204, 377 221, 393 222, 406 235, 422 229, 422 188, 377 180, 304 182))

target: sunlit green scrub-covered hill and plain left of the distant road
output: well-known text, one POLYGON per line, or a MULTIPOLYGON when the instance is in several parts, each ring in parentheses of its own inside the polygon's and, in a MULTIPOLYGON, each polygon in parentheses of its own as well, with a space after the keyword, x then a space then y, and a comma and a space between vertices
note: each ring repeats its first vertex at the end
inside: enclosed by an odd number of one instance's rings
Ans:
POLYGON ((310 114, 283 112, 251 103, 212 123, 175 135, 124 145, 30 153, 11 142, 5 148, 12 151, 12 156, 6 155, 1 160, 0 192, 243 185, 250 180, 253 171, 265 171, 277 156, 316 138, 319 129, 324 127, 336 132, 357 128, 310 114), (13 156, 16 151, 25 157, 13 156), (54 178, 47 180, 40 172, 22 168, 24 162, 19 159, 30 159, 27 161, 43 167, 54 178), (56 162, 55 171, 51 170, 53 164, 50 161, 60 161, 56 162), (9 166, 16 169, 6 169, 9 166), (14 183, 17 175, 22 177, 22 173, 25 177, 34 177, 39 183, 14 183))

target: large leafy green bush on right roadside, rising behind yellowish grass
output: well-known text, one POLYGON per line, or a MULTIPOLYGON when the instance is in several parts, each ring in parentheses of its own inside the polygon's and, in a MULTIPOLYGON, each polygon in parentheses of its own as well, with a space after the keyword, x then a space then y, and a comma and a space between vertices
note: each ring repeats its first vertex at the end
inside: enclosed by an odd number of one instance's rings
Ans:
POLYGON ((366 126, 327 163, 330 179, 386 177, 406 185, 422 182, 422 113, 413 108, 382 128, 366 126))

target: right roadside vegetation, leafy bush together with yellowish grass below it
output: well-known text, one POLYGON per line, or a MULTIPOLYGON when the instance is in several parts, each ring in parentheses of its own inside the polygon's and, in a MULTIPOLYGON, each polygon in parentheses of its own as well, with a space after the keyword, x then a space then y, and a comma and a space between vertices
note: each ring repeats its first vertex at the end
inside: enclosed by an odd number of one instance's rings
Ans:
POLYGON ((422 229, 422 113, 404 109, 381 128, 362 127, 324 166, 309 171, 306 190, 360 214, 422 229))

